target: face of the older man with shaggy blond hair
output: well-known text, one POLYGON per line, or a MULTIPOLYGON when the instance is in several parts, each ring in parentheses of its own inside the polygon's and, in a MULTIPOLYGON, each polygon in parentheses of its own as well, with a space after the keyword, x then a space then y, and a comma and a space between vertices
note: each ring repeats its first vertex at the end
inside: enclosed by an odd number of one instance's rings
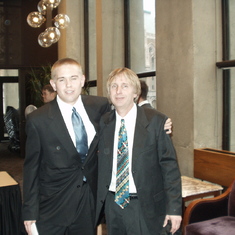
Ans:
POLYGON ((127 114, 134 105, 137 97, 133 85, 123 75, 117 76, 110 84, 110 100, 117 111, 127 114))

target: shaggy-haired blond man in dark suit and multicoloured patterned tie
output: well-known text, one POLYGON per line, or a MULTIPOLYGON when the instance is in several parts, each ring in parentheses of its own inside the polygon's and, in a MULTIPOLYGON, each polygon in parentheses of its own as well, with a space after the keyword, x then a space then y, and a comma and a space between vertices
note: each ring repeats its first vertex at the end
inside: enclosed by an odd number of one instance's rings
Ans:
POLYGON ((137 102, 140 83, 127 68, 107 81, 115 109, 100 121, 97 215, 105 212, 109 235, 157 235, 181 224, 181 176, 167 117, 137 102))

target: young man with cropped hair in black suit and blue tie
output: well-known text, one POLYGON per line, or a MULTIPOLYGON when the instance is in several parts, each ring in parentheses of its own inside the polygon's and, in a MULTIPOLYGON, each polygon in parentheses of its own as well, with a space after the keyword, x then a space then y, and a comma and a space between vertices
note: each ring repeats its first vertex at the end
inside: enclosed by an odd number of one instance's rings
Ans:
POLYGON ((110 104, 103 97, 81 95, 85 77, 73 59, 58 60, 51 75, 56 99, 27 117, 25 228, 30 235, 36 222, 40 235, 94 235, 98 124, 110 104), (80 140, 73 129, 73 108, 86 130, 80 140))

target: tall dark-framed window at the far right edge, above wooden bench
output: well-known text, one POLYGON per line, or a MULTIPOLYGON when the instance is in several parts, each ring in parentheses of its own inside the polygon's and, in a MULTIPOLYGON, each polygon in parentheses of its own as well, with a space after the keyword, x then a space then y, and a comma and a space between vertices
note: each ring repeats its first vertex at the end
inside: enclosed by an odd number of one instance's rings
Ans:
POLYGON ((223 11, 223 144, 224 150, 235 152, 235 1, 222 0, 223 11))

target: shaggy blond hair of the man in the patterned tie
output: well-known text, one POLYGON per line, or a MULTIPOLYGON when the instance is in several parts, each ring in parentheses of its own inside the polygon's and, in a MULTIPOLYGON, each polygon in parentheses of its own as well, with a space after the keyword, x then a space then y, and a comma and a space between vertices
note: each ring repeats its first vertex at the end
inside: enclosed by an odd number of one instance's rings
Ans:
POLYGON ((111 83, 113 82, 113 80, 115 78, 117 78, 120 75, 127 78, 128 81, 130 82, 130 84, 134 87, 135 93, 137 94, 137 97, 135 98, 134 101, 137 102, 137 100, 139 98, 139 95, 141 93, 140 80, 139 80, 138 76, 136 75, 136 73, 134 73, 131 69, 128 69, 128 68, 125 68, 125 67, 124 68, 117 68, 109 74, 108 79, 107 79, 107 84, 106 84, 108 98, 110 96, 110 85, 111 85, 111 83))

